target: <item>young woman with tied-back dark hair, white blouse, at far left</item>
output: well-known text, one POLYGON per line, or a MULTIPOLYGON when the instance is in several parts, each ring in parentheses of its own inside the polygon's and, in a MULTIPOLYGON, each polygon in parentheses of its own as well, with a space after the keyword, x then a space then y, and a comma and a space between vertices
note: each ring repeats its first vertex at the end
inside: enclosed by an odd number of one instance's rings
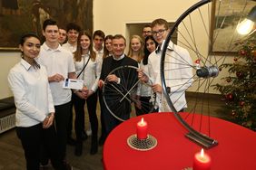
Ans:
POLYGON ((34 59, 40 52, 36 34, 21 37, 22 59, 9 72, 8 81, 15 97, 16 133, 25 151, 26 168, 39 170, 41 146, 47 149, 54 169, 64 169, 57 156, 54 130, 54 102, 43 65, 34 59))

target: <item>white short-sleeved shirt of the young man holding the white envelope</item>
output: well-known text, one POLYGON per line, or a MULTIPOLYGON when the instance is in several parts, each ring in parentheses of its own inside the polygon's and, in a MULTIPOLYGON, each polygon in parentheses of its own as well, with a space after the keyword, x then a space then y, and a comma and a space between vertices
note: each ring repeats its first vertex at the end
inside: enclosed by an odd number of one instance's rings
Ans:
MULTIPOLYGON (((65 50, 61 45, 57 49, 50 49, 46 43, 41 46, 38 62, 45 66, 48 77, 58 73, 68 78, 68 73, 75 72, 73 54, 65 50)), ((64 81, 50 82, 50 88, 54 99, 54 105, 63 105, 71 101, 71 90, 63 88, 64 81)))

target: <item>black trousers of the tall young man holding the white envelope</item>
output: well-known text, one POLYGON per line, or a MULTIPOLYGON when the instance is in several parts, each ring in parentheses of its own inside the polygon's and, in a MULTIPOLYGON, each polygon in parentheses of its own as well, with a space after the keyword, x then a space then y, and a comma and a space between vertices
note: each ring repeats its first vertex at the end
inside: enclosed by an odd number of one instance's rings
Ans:
POLYGON ((58 150, 61 159, 65 160, 66 142, 68 135, 68 122, 70 119, 71 101, 63 105, 54 106, 55 108, 55 127, 57 132, 58 150))

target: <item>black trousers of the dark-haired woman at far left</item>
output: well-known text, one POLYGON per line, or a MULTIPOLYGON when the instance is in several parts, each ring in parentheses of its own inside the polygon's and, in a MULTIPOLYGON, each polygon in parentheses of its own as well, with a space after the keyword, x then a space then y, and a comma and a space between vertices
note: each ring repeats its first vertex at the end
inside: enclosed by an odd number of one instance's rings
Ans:
POLYGON ((49 154, 54 169, 64 168, 57 150, 54 126, 43 128, 42 123, 39 123, 33 127, 16 127, 16 134, 25 151, 27 170, 39 170, 42 147, 49 154))

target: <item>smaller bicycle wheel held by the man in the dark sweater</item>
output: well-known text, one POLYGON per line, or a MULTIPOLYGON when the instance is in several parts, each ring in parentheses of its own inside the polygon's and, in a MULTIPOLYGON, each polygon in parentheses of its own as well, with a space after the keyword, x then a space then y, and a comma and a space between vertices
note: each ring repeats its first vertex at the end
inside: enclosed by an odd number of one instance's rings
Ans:
POLYGON ((121 66, 109 73, 109 75, 114 74, 120 78, 120 83, 111 82, 107 79, 104 80, 104 104, 113 117, 121 121, 131 117, 133 103, 140 103, 141 111, 144 114, 153 111, 155 97, 151 88, 152 81, 145 84, 138 80, 137 70, 137 67, 130 65, 121 66), (151 91, 149 101, 143 101, 138 98, 138 92, 141 86, 149 87, 151 91))

